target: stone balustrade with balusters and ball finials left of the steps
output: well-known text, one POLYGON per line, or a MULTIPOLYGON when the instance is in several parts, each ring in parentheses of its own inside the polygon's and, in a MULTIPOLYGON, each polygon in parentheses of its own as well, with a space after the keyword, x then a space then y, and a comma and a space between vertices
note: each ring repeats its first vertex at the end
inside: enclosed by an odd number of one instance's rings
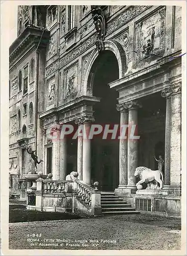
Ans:
POLYGON ((36 180, 35 190, 26 193, 27 209, 101 215, 101 192, 98 191, 98 184, 95 182, 95 188, 92 188, 76 177, 66 181, 52 180, 51 177, 45 180, 39 178, 36 180))

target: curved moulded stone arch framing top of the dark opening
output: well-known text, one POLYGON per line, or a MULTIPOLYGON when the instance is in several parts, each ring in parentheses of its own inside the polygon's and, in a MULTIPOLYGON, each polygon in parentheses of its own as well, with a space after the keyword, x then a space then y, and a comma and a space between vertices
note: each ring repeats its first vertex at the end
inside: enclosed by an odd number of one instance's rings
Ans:
MULTIPOLYGON (((118 66, 119 66, 119 79, 122 78, 125 75, 125 72, 127 70, 126 55, 122 45, 116 40, 105 40, 103 41, 103 44, 104 44, 104 50, 112 51, 115 54, 118 61, 118 66)), ((99 53, 97 49, 95 49, 91 55, 91 58, 89 60, 89 63, 86 69, 86 74, 84 79, 84 95, 87 95, 87 87, 88 87, 90 71, 94 61, 98 56, 99 56, 99 53)))

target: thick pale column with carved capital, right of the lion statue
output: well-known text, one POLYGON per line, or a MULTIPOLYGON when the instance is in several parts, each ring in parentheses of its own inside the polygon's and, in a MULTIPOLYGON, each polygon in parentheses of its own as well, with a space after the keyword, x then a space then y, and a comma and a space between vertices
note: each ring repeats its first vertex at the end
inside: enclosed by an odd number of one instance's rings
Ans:
POLYGON ((180 186, 181 172, 181 82, 162 91, 166 97, 165 186, 180 186), (169 130, 169 131, 168 131, 169 130))

